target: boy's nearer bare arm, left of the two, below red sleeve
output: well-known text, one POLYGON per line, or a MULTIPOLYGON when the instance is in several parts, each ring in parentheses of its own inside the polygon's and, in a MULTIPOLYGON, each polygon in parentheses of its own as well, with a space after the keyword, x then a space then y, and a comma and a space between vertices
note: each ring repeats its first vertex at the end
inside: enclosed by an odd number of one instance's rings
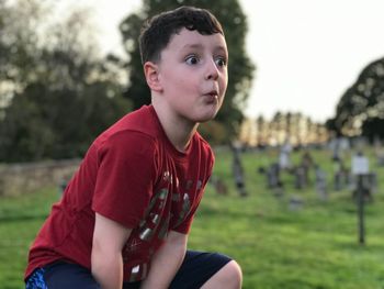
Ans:
POLYGON ((132 230, 95 213, 92 275, 103 289, 123 287, 122 249, 132 230))

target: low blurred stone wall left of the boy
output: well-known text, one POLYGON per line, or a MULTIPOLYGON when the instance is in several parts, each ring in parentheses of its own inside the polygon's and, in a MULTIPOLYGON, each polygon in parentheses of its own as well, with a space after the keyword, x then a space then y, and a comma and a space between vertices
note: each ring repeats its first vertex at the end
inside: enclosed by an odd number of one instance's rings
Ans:
POLYGON ((0 197, 31 193, 42 188, 57 187, 68 181, 80 159, 0 166, 0 197))

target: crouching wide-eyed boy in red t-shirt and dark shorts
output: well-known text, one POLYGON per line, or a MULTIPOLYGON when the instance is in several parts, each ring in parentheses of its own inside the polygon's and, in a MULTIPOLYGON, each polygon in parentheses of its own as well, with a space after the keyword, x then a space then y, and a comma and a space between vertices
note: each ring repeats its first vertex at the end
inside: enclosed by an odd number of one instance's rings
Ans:
POLYGON ((208 11, 181 7, 140 35, 151 105, 102 133, 32 245, 26 288, 240 288, 221 255, 187 251, 214 163, 196 132, 227 87, 228 52, 208 11))

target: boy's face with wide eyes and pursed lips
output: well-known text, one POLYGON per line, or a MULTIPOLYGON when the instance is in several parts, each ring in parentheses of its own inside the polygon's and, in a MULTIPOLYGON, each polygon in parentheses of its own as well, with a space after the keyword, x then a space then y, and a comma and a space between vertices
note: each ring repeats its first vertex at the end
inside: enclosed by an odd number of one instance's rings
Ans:
POLYGON ((228 51, 222 34, 182 29, 157 64, 162 101, 169 113, 191 122, 213 119, 227 89, 228 51))

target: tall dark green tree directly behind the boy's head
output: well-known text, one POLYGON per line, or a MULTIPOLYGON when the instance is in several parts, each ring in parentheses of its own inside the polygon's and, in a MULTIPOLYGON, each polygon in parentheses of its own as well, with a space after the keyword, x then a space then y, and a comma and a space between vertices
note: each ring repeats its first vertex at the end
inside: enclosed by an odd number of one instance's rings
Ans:
MULTIPOLYGON (((248 99, 252 71, 255 69, 253 64, 245 53, 245 36, 248 25, 247 19, 237 0, 222 0, 214 3, 206 0, 144 0, 142 10, 128 15, 120 25, 125 52, 128 55, 127 69, 129 70, 128 87, 124 96, 132 100, 135 109, 150 102, 150 92, 143 75, 137 41, 140 26, 147 18, 165 10, 174 9, 181 4, 211 10, 225 30, 229 51, 229 84, 226 99, 215 119, 217 123, 215 125, 204 124, 201 130, 203 132, 210 132, 212 131, 210 127, 219 125, 226 130, 225 141, 229 141, 244 118, 242 109, 248 99), (210 127, 204 127, 205 125, 210 127)), ((205 136, 208 137, 207 135, 205 136)), ((221 140, 218 142, 224 141, 221 140)))

